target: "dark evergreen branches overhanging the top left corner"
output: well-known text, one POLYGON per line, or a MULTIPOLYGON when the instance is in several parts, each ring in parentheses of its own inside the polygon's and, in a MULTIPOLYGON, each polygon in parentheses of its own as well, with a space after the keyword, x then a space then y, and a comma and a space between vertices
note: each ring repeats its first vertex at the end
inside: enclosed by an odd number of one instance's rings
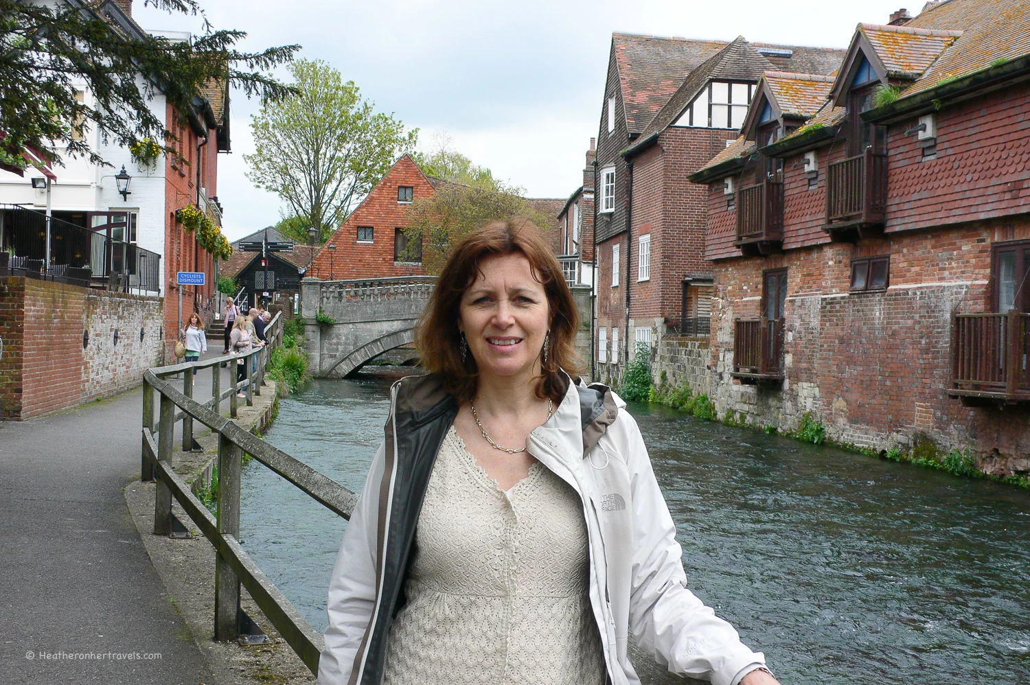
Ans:
MULTIPOLYGON (((92 123, 106 142, 130 147, 174 140, 164 112, 148 103, 156 92, 185 116, 194 98, 212 80, 228 80, 247 97, 274 101, 291 89, 267 73, 289 62, 299 45, 259 53, 237 50, 246 33, 214 30, 191 41, 151 36, 101 0, 27 2, 0 0, 0 164, 26 166, 33 147, 62 162, 85 157, 107 164, 83 135, 92 123), (84 83, 94 102, 80 101, 84 83)), ((196 0, 144 0, 169 13, 197 14, 196 0)), ((172 153, 172 147, 165 147, 172 153)), ((108 165, 109 166, 109 165, 108 165)))

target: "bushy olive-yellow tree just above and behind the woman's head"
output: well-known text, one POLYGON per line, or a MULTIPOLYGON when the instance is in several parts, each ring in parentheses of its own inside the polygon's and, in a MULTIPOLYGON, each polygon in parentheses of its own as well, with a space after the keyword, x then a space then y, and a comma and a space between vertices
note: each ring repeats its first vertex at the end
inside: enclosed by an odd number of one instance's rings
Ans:
POLYGON ((416 198, 408 209, 409 251, 421 252, 421 260, 406 255, 405 261, 421 261, 428 274, 440 273, 450 246, 469 233, 497 220, 523 216, 553 240, 554 219, 538 211, 521 196, 521 189, 496 189, 447 183, 427 198, 416 198))

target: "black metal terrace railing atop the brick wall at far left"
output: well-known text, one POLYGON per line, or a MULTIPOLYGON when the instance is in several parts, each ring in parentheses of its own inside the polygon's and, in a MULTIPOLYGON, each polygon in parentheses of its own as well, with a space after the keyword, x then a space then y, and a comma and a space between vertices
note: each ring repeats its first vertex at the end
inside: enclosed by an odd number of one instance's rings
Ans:
POLYGON ((19 205, 0 205, 4 246, 0 270, 123 293, 161 290, 161 255, 137 245, 52 216, 50 264, 46 258, 46 215, 19 205), (5 264, 6 263, 6 264, 5 264))

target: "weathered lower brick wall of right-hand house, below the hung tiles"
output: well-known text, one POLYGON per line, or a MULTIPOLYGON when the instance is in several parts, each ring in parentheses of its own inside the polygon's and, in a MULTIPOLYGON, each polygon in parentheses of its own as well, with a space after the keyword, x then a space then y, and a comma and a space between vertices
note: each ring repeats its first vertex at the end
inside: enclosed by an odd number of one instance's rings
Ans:
POLYGON ((1030 470, 1030 408, 969 408, 947 392, 952 313, 987 311, 991 244, 1027 238, 1030 220, 1002 218, 717 262, 710 365, 720 414, 790 431, 809 412, 830 439, 878 450, 923 432, 969 448, 988 471, 1030 470), (890 287, 850 293, 851 260, 873 254, 890 254, 890 287), (758 314, 762 271, 781 267, 786 380, 742 385, 729 376, 733 319, 758 314))

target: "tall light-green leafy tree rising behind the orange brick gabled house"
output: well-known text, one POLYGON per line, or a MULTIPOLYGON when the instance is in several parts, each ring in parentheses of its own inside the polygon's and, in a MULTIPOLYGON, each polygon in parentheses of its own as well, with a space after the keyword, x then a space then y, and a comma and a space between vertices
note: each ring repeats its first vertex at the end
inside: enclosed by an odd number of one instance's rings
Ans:
POLYGON ((289 67, 297 94, 253 117, 255 150, 245 155, 255 185, 271 191, 310 226, 339 226, 402 153, 418 129, 373 111, 353 81, 321 61, 289 67))

